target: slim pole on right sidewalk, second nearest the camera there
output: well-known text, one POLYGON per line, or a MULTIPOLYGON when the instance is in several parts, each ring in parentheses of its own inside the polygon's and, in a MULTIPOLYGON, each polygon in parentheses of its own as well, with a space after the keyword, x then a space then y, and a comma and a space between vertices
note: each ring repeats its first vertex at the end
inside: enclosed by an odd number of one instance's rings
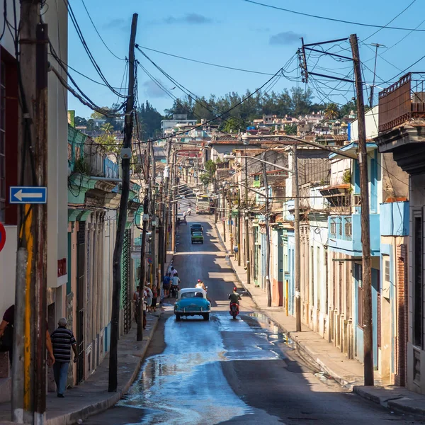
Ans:
MULTIPOLYGON (((300 185, 298 183, 297 146, 293 147, 293 182, 295 185, 295 320, 296 331, 301 331, 301 246, 300 246, 300 185)), ((294 193, 294 189, 293 189, 294 193)))

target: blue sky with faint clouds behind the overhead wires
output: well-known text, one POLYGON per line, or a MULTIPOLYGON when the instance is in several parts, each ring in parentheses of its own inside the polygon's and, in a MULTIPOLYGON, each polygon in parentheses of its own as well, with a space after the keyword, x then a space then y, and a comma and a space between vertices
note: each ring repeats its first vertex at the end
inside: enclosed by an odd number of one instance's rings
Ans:
MULTIPOLYGON (((285 0, 259 0, 264 4, 290 8, 319 16, 329 16, 347 21, 372 23, 385 26, 398 13, 412 3, 412 0, 358 0, 355 9, 352 2, 341 0, 304 0, 302 2, 285 0)), ((196 60, 213 62, 274 74, 295 55, 300 47, 300 37, 306 43, 348 37, 356 33, 360 40, 365 40, 375 33, 377 28, 368 28, 346 23, 323 21, 317 18, 297 16, 292 13, 273 10, 249 4, 244 0, 85 0, 85 4, 99 33, 110 49, 119 57, 128 56, 128 40, 132 13, 138 13, 137 43, 141 46, 169 52, 174 55, 196 60)), ((96 34, 81 0, 72 1, 72 8, 77 17, 87 45, 101 67, 106 79, 112 86, 122 85, 125 62, 111 55, 96 34)), ((425 19, 425 2, 416 0, 407 11, 404 11, 390 25, 416 28, 425 19)), ((425 29, 425 21, 419 29, 425 29)), ((369 43, 380 43, 392 47, 386 51, 380 48, 382 57, 378 57, 377 85, 386 87, 386 81, 395 77, 400 70, 424 55, 425 33, 402 30, 383 29, 368 40, 361 43, 361 60, 365 63, 365 81, 372 81, 374 47, 369 43), (407 38, 402 40, 404 36, 407 38), (401 41, 400 41, 401 40, 401 41), (387 62, 386 62, 387 61, 387 62), (368 67, 368 68, 366 68, 368 67), (398 68, 398 69, 397 69, 398 68)), ((351 55, 347 42, 339 43, 334 52, 339 55, 351 55), (348 49, 348 50, 343 50, 348 49)), ((260 74, 249 74, 229 69, 219 69, 203 64, 186 62, 156 52, 145 51, 149 57, 162 67, 180 84, 186 86, 198 96, 223 95, 229 91, 242 93, 246 89, 254 91, 267 81, 269 77, 260 74)), ((152 64, 149 64, 140 52, 137 60, 168 89, 175 84, 167 81, 152 64)), ((310 57, 308 64, 312 68, 318 57, 310 57)), ((69 21, 69 65, 88 77, 100 81, 94 67, 84 52, 80 40, 69 21)), ((288 68, 293 77, 297 77, 297 61, 288 68)), ((326 57, 320 58, 315 71, 323 74, 324 69, 333 69, 346 75, 351 70, 351 63, 339 63, 326 57), (324 69, 321 69, 324 68, 324 69)), ((412 71, 425 69, 425 60, 416 64, 412 71)), ((99 106, 111 106, 118 97, 104 86, 95 84, 70 70, 72 76, 89 97, 99 106)), ((149 77, 139 69, 139 100, 148 100, 159 112, 163 112, 172 104, 171 98, 160 90, 149 77)), ((296 82, 280 78, 273 90, 281 91, 295 86, 296 82)), ((304 84, 302 84, 304 86, 304 84)), ((325 95, 333 101, 345 103, 353 96, 351 84, 341 84, 339 89, 331 91, 336 84, 330 81, 312 81, 315 101, 326 100, 325 95), (325 85, 326 84, 326 85, 325 85), (334 97, 335 96, 335 97, 334 97), (344 97, 343 97, 344 96, 344 97)), ((380 91, 380 89, 377 89, 380 91)), ((179 89, 171 91, 175 96, 182 96, 179 89)), ((88 117, 89 108, 81 105, 77 99, 69 95, 69 108, 75 109, 77 115, 88 117)))

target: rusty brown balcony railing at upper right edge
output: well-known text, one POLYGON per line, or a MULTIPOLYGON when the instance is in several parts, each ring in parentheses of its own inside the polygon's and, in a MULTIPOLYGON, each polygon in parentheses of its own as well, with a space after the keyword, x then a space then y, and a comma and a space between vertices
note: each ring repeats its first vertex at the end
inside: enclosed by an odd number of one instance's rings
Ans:
POLYGON ((425 117, 425 73, 409 72, 379 94, 379 131, 425 117))

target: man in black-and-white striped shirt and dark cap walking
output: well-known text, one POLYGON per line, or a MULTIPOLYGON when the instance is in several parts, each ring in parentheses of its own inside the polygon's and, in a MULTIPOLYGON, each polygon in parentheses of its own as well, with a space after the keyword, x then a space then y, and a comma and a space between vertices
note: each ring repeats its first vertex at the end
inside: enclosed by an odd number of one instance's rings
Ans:
POLYGON ((71 348, 74 351, 74 363, 77 361, 77 341, 75 341, 72 331, 67 329, 67 319, 59 320, 59 327, 52 332, 53 354, 55 355, 55 364, 53 365, 53 374, 57 387, 57 397, 64 397, 67 388, 68 367, 71 361, 71 348))

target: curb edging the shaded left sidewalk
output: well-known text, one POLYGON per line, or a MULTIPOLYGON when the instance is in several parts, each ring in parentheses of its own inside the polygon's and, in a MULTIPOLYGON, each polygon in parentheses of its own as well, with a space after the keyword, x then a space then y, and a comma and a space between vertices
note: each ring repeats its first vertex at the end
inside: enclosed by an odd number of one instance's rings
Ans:
POLYGON ((137 378, 137 375, 139 374, 140 367, 142 366, 142 363, 145 360, 145 354, 146 354, 147 348, 149 347, 150 342, 152 341, 152 336, 154 335, 154 332, 157 329, 159 318, 160 316, 157 317, 157 320, 155 320, 153 324, 152 333, 151 333, 151 336, 149 336, 149 339, 147 339, 147 344, 145 345, 144 348, 142 348, 142 351, 140 351, 140 360, 137 362, 134 372, 132 373, 130 379, 123 386, 121 390, 118 390, 117 392, 113 393, 111 397, 109 397, 106 400, 102 400, 101 402, 91 404, 75 412, 64 414, 63 416, 56 416, 55 418, 47 419, 46 424, 47 425, 73 425, 73 424, 76 424, 79 419, 82 419, 82 420, 87 419, 89 416, 93 416, 94 414, 104 412, 105 410, 117 404, 120 401, 120 399, 123 398, 125 393, 128 392, 128 390, 130 389, 130 386, 132 385, 132 383, 137 378))

